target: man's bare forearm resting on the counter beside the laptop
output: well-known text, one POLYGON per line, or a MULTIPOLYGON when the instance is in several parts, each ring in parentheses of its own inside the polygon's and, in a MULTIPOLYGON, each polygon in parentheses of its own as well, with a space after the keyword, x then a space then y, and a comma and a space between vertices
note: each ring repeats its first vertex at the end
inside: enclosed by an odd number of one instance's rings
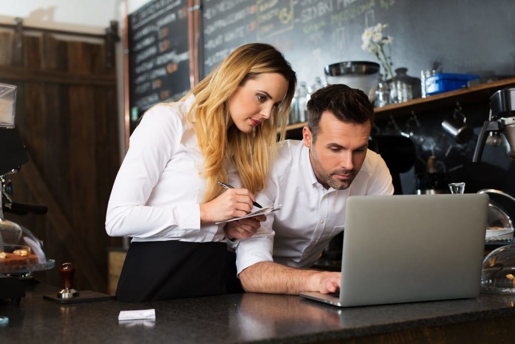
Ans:
POLYGON ((262 261, 249 266, 239 274, 245 291, 272 294, 298 294, 301 291, 318 291, 316 270, 294 269, 272 261, 262 261))

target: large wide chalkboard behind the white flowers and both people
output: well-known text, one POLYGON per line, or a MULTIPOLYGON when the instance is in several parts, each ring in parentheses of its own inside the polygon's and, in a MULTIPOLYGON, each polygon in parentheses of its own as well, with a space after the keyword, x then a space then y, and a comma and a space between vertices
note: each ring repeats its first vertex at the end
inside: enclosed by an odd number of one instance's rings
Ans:
POLYGON ((234 48, 276 46, 308 86, 327 64, 374 61, 361 48, 366 27, 387 24, 393 68, 411 76, 439 65, 447 73, 512 75, 514 0, 205 0, 203 68, 207 75, 234 48), (477 21, 470 20, 476 18, 477 21))

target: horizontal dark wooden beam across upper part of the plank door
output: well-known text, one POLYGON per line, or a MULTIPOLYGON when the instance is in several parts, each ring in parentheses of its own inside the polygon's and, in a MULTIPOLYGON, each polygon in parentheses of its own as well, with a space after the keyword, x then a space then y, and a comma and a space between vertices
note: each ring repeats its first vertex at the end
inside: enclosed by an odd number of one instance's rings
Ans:
POLYGON ((7 65, 0 65, 0 80, 36 81, 66 85, 116 86, 116 75, 85 75, 7 65))

